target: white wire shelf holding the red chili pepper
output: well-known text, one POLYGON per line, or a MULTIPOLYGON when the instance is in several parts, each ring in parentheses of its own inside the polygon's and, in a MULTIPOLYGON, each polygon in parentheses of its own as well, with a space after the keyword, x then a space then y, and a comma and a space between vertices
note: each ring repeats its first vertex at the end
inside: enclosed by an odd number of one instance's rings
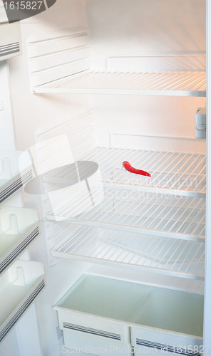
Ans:
POLYGON ((206 158, 203 154, 100 147, 83 159, 98 162, 105 184, 205 197, 206 158), (122 165, 125 160, 133 167, 150 172, 152 177, 125 171, 122 165))

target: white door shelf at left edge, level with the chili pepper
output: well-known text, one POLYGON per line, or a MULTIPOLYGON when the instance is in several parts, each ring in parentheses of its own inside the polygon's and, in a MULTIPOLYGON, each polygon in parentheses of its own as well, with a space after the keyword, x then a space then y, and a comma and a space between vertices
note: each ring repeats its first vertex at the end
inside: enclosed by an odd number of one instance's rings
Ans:
POLYGON ((0 152, 0 204, 33 177, 31 157, 23 151, 0 152))

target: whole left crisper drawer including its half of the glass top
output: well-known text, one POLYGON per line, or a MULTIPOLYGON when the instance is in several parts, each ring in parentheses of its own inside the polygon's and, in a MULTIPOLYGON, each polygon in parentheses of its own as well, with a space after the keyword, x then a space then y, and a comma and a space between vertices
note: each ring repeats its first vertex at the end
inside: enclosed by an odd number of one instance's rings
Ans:
POLYGON ((81 276, 53 307, 58 313, 64 343, 73 348, 130 345, 127 320, 136 299, 131 283, 81 276))

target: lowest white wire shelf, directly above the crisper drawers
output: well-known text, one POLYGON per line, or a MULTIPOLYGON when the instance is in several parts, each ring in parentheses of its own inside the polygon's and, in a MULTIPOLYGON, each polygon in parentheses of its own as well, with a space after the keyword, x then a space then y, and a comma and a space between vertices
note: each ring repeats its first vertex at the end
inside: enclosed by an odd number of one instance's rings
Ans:
MULTIPOLYGON (((62 234, 63 235, 63 234, 62 234)), ((53 256, 81 259, 194 278, 204 278, 205 244, 82 226, 51 250, 53 256)))

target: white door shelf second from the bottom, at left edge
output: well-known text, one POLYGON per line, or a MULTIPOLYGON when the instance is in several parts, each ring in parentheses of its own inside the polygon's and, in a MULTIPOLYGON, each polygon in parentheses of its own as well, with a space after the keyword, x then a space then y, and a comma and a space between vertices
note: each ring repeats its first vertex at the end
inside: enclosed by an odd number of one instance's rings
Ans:
POLYGON ((0 207, 0 274, 36 239, 39 229, 36 210, 0 207))

